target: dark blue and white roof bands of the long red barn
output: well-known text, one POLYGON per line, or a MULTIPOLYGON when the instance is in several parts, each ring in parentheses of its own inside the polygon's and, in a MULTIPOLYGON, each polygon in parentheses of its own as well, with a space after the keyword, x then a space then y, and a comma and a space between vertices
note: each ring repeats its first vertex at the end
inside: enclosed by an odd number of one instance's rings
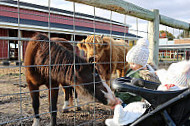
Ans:
MULTIPOLYGON (((39 11, 41 10, 42 12, 48 12, 48 7, 46 6, 41 6, 41 5, 36 5, 36 4, 32 4, 32 3, 26 3, 26 2, 19 2, 20 8, 21 9, 30 9, 32 11, 39 11)), ((0 1, 0 6, 11 6, 14 8, 17 8, 17 1, 14 0, 3 0, 0 1)), ((7 8, 6 8, 7 9, 7 8)), ((67 11, 67 10, 62 10, 62 9, 57 9, 57 8, 51 8, 51 12, 55 12, 54 14, 61 14, 64 16, 73 16, 73 12, 72 11, 67 11)), ((7 14, 0 14, 0 27, 4 28, 12 28, 12 27, 18 27, 18 18, 15 16, 12 16, 13 14, 10 14, 11 16, 7 15, 7 14)), ((14 15, 18 15, 17 13, 14 12, 14 15)), ((81 19, 81 20, 86 20, 86 21, 91 21, 93 22, 94 20, 94 16, 93 15, 88 15, 88 14, 83 14, 83 13, 75 13, 76 18, 81 19)), ((23 18, 20 18, 20 27, 23 30, 35 30, 35 31, 47 31, 48 30, 48 23, 47 21, 43 21, 43 20, 37 20, 37 18, 30 18, 30 15, 26 15, 23 18), (28 17, 28 18, 27 18, 28 17), (34 27, 35 26, 35 27, 34 27)), ((76 19, 77 20, 77 19, 76 19)), ((137 39, 140 36, 136 36, 134 34, 130 34, 128 32, 124 32, 124 28, 125 27, 129 27, 129 25, 125 25, 123 23, 120 22, 116 22, 113 20, 109 20, 106 18, 102 18, 102 17, 97 17, 95 16, 95 20, 96 23, 99 22, 102 24, 105 24, 107 26, 99 26, 96 27, 95 32, 98 34, 110 34, 110 22, 113 24, 112 26, 112 35, 116 36, 116 37, 123 37, 126 36, 128 38, 132 38, 132 39, 137 39), (106 28, 107 27, 107 28, 106 28)), ((85 23, 82 22, 82 23, 85 23)), ((50 24, 51 26, 51 31, 52 32, 73 32, 73 25, 70 23, 63 23, 63 21, 60 23, 60 21, 54 21, 51 22, 50 24)), ((98 26, 98 25, 97 25, 98 26)), ((93 34, 94 33, 94 28, 93 26, 89 25, 75 25, 75 32, 76 34, 93 34)))

